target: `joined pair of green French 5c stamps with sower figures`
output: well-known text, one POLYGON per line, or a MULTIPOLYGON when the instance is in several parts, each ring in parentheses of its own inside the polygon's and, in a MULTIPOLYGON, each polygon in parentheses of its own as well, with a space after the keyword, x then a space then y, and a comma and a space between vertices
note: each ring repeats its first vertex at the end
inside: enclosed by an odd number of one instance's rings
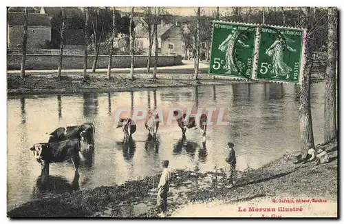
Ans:
POLYGON ((305 30, 214 21, 210 74, 299 83, 305 30))

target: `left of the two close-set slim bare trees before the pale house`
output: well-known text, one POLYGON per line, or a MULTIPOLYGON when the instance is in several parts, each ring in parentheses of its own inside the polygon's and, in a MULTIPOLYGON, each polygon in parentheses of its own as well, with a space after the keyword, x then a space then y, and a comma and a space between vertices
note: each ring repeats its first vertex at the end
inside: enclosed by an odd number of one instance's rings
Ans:
POLYGON ((142 10, 143 10, 143 18, 141 17, 141 24, 142 24, 142 27, 148 32, 149 46, 148 46, 147 73, 149 73, 151 70, 151 50, 153 48, 152 27, 153 27, 153 21, 154 21, 154 18, 153 18, 154 14, 152 12, 151 7, 144 7, 142 8, 142 10))

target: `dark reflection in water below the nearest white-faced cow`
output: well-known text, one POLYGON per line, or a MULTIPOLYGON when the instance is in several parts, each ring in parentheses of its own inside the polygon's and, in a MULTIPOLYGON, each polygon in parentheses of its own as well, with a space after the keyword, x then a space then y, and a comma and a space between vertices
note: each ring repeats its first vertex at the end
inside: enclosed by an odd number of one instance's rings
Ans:
POLYGON ((41 174, 36 179, 36 185, 32 190, 33 198, 40 198, 46 194, 63 194, 65 192, 73 192, 79 190, 78 171, 74 172, 74 179, 71 183, 64 176, 44 176, 41 174))

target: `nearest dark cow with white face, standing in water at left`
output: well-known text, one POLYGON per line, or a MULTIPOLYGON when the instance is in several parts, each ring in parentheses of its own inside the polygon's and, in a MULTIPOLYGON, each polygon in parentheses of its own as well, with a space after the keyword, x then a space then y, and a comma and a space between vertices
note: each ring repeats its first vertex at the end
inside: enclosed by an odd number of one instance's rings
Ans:
POLYGON ((42 165, 42 174, 49 176, 50 163, 62 163, 72 159, 75 170, 78 170, 80 160, 84 160, 80 152, 80 141, 65 140, 58 143, 36 143, 30 148, 36 157, 36 161, 42 165))

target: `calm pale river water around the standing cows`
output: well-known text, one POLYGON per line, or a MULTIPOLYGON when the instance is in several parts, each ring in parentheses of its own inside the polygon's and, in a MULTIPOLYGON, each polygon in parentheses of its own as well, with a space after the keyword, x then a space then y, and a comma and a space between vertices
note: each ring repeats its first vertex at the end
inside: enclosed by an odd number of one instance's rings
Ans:
MULTIPOLYGON (((173 169, 211 171, 225 166, 228 141, 235 143, 237 170, 255 169, 299 150, 297 85, 235 83, 232 85, 160 88, 138 92, 10 96, 8 98, 8 209, 32 200, 41 167, 29 150, 46 142, 45 133, 67 125, 92 122, 95 150, 79 168, 80 190, 120 184, 161 171, 169 159, 173 169), (176 123, 160 125, 158 140, 147 139, 138 123, 133 143, 123 144, 116 128, 116 108, 226 108, 229 125, 207 128, 206 145, 200 130, 187 130, 186 141, 176 123)), ((314 139, 323 139, 324 83, 312 83, 314 139)), ((50 175, 72 183, 72 163, 53 163, 50 175)))

